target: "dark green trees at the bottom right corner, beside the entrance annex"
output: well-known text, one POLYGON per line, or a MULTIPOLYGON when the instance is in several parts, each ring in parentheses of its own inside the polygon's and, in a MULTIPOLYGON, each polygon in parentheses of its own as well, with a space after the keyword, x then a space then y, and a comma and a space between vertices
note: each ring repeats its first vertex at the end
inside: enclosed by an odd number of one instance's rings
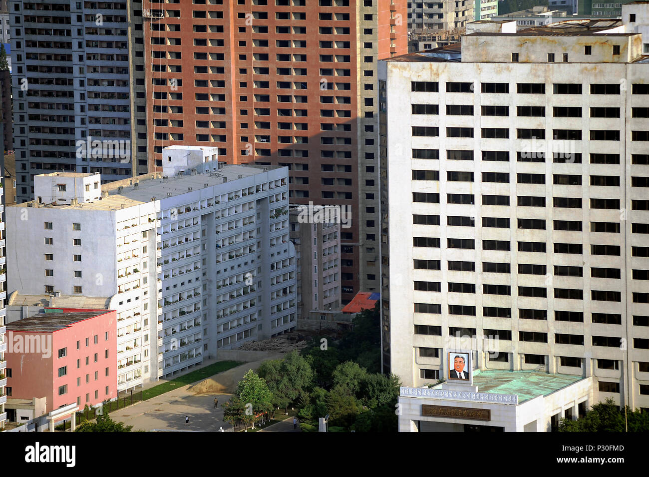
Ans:
MULTIPOLYGON (((631 411, 626 406, 626 424, 629 432, 648 432, 649 413, 631 411)), ((561 419, 559 432, 625 432, 624 408, 615 404, 613 398, 593 405, 584 417, 572 421, 561 419)))

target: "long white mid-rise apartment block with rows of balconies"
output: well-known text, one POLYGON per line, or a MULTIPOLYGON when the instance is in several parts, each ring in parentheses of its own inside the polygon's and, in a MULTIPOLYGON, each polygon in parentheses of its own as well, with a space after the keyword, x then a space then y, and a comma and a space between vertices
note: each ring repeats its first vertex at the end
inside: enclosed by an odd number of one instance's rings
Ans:
MULTIPOLYGON (((7 208, 9 289, 108 297, 120 391, 295 327, 288 169, 194 166, 104 184, 96 199, 7 208)), ((75 181, 92 193, 101 177, 36 176, 35 196, 75 181)))

